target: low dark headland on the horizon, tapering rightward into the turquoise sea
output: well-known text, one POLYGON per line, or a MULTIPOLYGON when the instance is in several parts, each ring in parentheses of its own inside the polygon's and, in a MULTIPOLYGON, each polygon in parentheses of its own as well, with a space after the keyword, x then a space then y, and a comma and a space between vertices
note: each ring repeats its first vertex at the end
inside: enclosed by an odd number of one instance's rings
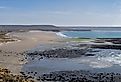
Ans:
MULTIPOLYGON (((42 31, 80 31, 85 29, 73 27, 60 27, 54 25, 0 25, 0 31, 28 31, 28 30, 42 30, 42 31)), ((86 30, 87 31, 87 30, 86 30)))

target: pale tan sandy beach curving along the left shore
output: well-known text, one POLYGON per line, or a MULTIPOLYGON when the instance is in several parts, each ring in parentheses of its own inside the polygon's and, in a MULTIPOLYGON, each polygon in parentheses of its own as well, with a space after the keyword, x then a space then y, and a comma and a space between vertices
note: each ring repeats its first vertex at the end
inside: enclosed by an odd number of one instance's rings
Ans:
POLYGON ((12 32, 9 36, 16 37, 19 41, 0 45, 0 67, 7 68, 15 74, 19 74, 22 65, 26 62, 21 53, 39 44, 57 43, 61 38, 55 32, 46 31, 12 32))

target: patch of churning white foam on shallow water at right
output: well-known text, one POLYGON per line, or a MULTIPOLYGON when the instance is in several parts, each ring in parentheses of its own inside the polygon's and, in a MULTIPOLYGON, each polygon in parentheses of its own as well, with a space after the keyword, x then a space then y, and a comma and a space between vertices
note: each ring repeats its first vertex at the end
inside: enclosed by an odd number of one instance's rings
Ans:
POLYGON ((92 68, 108 68, 113 65, 121 66, 121 50, 114 50, 114 49, 95 49, 95 50, 100 50, 99 52, 94 52, 96 56, 83 57, 76 59, 74 61, 81 64, 87 64, 92 68))

